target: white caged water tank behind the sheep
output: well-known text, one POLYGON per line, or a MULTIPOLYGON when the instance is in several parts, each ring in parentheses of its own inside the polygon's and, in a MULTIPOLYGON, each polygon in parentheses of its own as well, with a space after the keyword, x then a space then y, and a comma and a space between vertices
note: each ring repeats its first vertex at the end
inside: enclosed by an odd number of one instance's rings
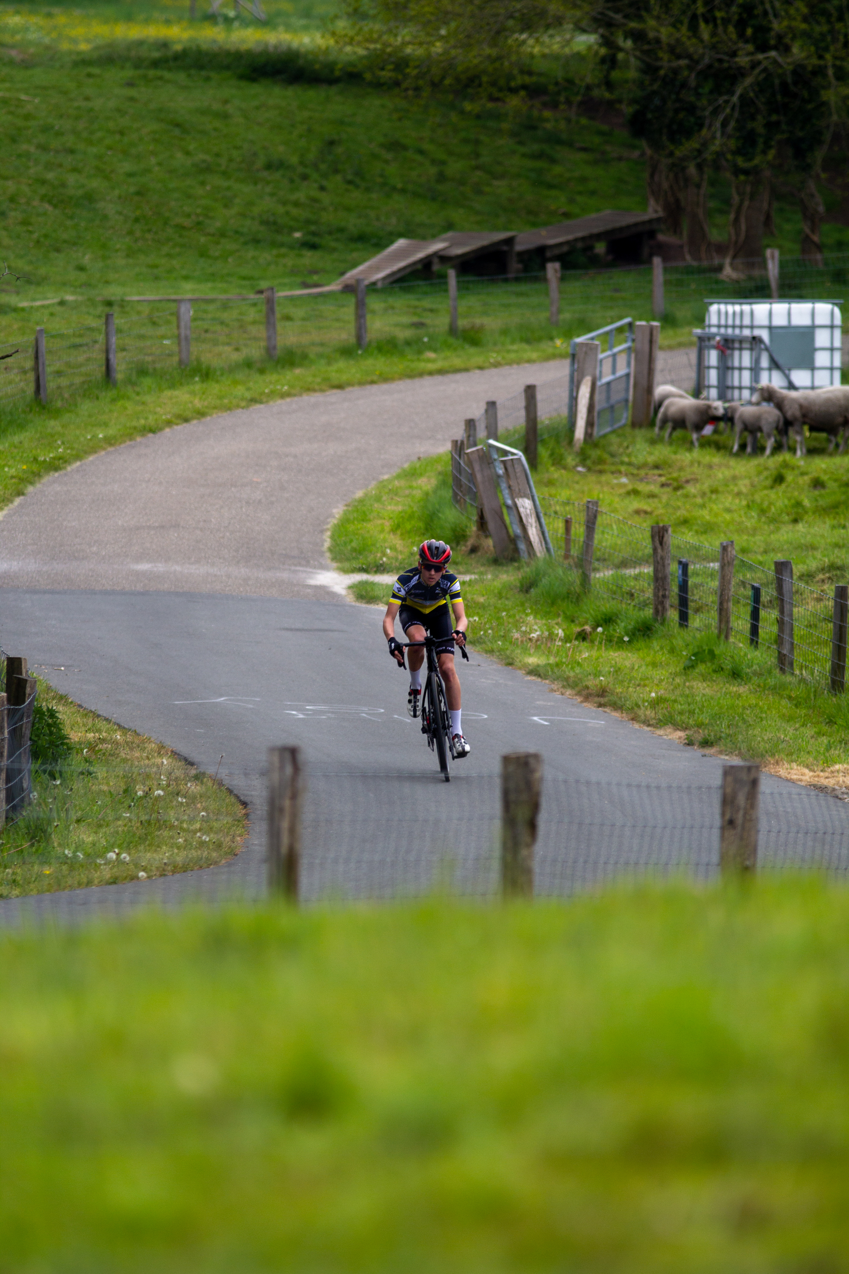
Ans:
MULTIPOLYGON (((713 301, 705 331, 717 333, 718 338, 760 336, 787 368, 797 390, 840 383, 843 316, 831 301, 713 301)), ((705 348, 708 397, 720 395, 723 357, 724 397, 747 397, 759 381, 788 389, 787 377, 764 349, 751 341, 732 340, 724 353, 719 343, 705 348)))

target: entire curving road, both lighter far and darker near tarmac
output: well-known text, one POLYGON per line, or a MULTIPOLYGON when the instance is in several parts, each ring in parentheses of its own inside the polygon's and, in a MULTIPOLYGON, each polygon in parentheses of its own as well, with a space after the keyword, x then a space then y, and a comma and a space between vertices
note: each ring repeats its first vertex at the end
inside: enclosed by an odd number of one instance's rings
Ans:
MULTIPOLYGON (((232 412, 48 478, 0 519, 0 638, 65 693, 221 775, 251 808, 230 864, 144 884, 0 902, 0 921, 88 917, 263 891, 271 744, 308 761, 304 893, 384 896, 451 870, 491 888, 504 752, 542 750, 540 885, 647 861, 714 869, 720 763, 472 656, 468 761, 439 781, 405 713, 379 615, 325 554, 333 513, 465 417, 558 361, 232 412)), ((845 805, 766 777, 764 848, 849 864, 845 805)))

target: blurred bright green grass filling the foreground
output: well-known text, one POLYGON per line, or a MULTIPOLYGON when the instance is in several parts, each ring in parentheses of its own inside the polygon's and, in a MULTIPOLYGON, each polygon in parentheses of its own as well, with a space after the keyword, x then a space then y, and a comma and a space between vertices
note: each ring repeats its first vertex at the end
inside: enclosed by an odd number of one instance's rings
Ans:
POLYGON ((849 1269, 849 892, 0 939, 4 1271, 849 1269))

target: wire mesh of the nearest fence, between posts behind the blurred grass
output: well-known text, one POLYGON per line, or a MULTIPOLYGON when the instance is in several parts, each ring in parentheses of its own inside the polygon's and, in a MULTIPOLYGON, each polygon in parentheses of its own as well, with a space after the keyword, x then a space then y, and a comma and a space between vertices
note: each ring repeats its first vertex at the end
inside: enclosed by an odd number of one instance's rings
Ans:
MULTIPOLYGON (((699 782, 644 778, 593 781, 563 766, 542 778, 533 894, 568 898, 582 892, 647 882, 709 883, 720 871, 720 762, 699 782)), ((502 791, 496 773, 468 776, 448 799, 434 800, 421 776, 307 764, 298 897, 302 903, 444 896, 494 901, 502 892, 502 791)), ((127 792, 118 767, 112 796, 97 808, 76 805, 73 782, 45 787, 31 808, 17 868, 20 883, 50 864, 65 891, 0 901, 0 924, 33 912, 85 919, 140 905, 230 903, 266 897, 265 827, 255 810, 253 838, 228 862, 204 869, 206 842, 191 814, 157 818, 127 792), (127 817, 127 809, 131 817, 127 817), (85 842, 79 841, 80 823, 85 842), (76 829, 67 850, 69 827, 76 829), (36 837, 42 834, 42 841, 36 837), (123 875, 121 875, 121 873, 123 875), (109 888, 97 885, 115 877, 109 888)), ((434 781, 437 776, 434 775, 434 781)), ((841 792, 843 798, 848 794, 841 792)), ((148 801, 148 806, 154 805, 148 801)), ((211 819, 204 836, 227 836, 211 819)), ((18 855, 15 855, 18 859, 18 855)), ((849 871, 845 799, 761 777, 757 870, 849 871)), ((45 888, 43 878, 36 887, 45 888)))

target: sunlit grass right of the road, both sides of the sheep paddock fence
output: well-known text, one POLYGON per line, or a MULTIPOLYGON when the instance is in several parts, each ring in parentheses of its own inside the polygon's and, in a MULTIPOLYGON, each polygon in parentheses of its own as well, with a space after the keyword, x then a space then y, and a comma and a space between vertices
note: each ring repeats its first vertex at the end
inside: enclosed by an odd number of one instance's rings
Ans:
MULTIPOLYGON (((648 431, 622 429, 584 448, 580 466, 554 437, 542 446, 541 494, 597 498, 636 522, 671 522, 706 543, 736 539, 737 552, 771 567, 790 557, 797 578, 829 587, 849 575, 849 461, 812 440, 807 460, 729 455, 728 438, 692 452, 648 431), (626 482, 622 482, 622 478, 626 482)), ((337 519, 330 550, 341 569, 388 573, 414 561, 425 536, 461 545, 471 645, 640 725, 703 750, 760 761, 774 773, 849 787, 849 705, 775 669, 769 651, 657 626, 644 610, 601 592, 584 594, 555 562, 498 564, 488 541, 451 503, 449 461, 416 461, 353 501, 337 519)), ((378 604, 388 590, 351 586, 378 604)), ((467 688, 467 703, 474 684, 467 688)))

